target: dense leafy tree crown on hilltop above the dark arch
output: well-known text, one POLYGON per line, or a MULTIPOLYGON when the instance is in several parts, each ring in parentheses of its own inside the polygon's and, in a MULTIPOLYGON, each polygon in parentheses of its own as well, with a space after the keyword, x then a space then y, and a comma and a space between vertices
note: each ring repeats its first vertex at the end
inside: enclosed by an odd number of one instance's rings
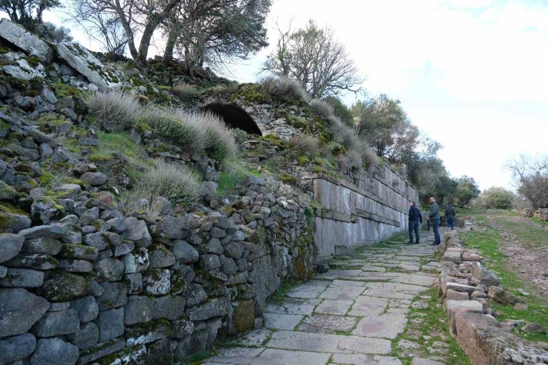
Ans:
POLYGON ((188 73, 245 60, 268 45, 264 21, 271 0, 182 0, 162 27, 164 62, 174 57, 188 73))

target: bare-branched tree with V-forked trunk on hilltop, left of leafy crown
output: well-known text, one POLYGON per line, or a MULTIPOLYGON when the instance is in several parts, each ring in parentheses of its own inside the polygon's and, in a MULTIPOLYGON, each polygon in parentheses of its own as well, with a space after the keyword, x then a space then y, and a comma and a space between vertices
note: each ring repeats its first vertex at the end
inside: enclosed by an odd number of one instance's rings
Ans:
MULTIPOLYGON (((171 14, 177 5, 175 0, 71 0, 73 19, 84 23, 95 13, 100 13, 105 21, 117 19, 127 38, 129 53, 137 64, 144 64, 151 45, 151 39, 158 25, 171 14), (82 11, 78 11, 81 9, 82 11), (136 38, 140 36, 138 48, 136 38)), ((96 21, 89 22, 97 27, 96 21)), ((99 29, 99 34, 104 34, 99 29)))

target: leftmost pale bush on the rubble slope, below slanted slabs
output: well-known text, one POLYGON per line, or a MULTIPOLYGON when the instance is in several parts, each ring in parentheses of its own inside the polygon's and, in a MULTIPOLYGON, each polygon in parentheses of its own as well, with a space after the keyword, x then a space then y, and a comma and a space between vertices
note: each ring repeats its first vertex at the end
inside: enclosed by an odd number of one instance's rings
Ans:
POLYGON ((86 97, 89 113, 107 131, 129 129, 139 120, 142 108, 137 99, 122 91, 98 91, 86 97))

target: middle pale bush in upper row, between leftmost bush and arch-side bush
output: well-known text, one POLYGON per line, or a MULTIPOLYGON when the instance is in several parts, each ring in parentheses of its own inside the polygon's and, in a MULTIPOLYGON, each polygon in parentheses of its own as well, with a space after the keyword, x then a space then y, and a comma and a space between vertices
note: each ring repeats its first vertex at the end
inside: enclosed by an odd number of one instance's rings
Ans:
POLYGON ((205 148, 203 126, 195 118, 186 118, 178 111, 149 104, 142 119, 160 136, 172 140, 192 153, 205 148))

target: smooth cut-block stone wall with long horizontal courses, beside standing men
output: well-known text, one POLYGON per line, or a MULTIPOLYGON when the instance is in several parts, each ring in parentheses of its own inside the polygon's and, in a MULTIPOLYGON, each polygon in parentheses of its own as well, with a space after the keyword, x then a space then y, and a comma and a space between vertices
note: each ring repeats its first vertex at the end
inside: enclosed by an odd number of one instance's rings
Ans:
POLYGON ((388 166, 373 172, 321 173, 312 177, 316 209, 314 242, 321 257, 345 253, 406 230, 410 201, 419 195, 388 166))

